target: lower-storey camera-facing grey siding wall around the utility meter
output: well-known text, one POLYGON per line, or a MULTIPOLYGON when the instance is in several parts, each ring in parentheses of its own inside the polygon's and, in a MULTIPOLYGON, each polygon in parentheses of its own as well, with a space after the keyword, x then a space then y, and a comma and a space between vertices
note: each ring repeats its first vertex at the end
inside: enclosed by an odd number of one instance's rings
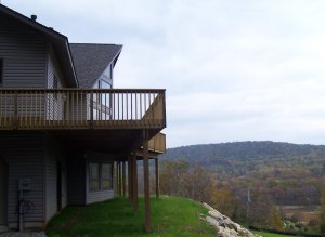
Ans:
POLYGON ((31 201, 34 210, 25 214, 25 222, 44 221, 44 135, 40 133, 0 134, 1 156, 8 162, 8 221, 17 223, 17 184, 20 179, 31 180, 31 190, 24 193, 24 199, 31 201))

